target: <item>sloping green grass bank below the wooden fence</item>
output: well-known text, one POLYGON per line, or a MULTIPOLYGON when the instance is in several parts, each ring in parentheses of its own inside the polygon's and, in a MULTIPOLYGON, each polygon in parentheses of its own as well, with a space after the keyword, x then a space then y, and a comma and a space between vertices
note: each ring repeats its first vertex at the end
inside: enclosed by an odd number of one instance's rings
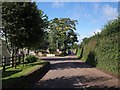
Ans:
POLYGON ((2 84, 3 86, 9 85, 14 83, 16 80, 20 79, 21 77, 25 77, 32 72, 36 71, 37 69, 44 67, 47 62, 43 60, 38 60, 34 63, 29 63, 23 65, 19 65, 15 68, 7 67, 6 71, 2 73, 2 84))

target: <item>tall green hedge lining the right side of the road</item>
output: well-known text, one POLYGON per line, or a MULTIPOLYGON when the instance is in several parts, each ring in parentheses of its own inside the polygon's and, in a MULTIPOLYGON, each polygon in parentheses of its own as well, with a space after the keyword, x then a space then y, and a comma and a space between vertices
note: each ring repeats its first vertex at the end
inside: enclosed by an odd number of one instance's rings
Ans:
POLYGON ((83 39, 81 47, 78 48, 77 56, 92 66, 118 74, 120 69, 118 65, 120 62, 118 57, 119 29, 120 18, 109 21, 101 33, 83 39))

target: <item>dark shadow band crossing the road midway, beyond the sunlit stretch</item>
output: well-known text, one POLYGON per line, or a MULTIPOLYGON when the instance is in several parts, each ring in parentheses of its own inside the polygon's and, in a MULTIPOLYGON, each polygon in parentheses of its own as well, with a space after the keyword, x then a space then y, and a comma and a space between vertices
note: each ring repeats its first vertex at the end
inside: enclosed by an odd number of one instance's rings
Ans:
POLYGON ((92 68, 92 66, 84 62, 59 62, 51 64, 51 70, 63 70, 70 68, 92 68))

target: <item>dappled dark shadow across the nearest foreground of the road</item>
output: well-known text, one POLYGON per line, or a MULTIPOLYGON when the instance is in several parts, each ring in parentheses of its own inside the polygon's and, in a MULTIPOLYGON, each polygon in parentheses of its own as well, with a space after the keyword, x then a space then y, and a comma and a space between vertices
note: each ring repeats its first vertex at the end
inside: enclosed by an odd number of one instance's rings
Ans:
POLYGON ((102 82, 110 80, 108 77, 90 77, 90 76, 71 76, 71 77, 60 77, 54 79, 48 79, 45 81, 40 81, 34 85, 33 88, 102 88, 102 89, 115 89, 115 86, 107 86, 107 85, 92 85, 88 86, 88 83, 93 82, 102 82), (77 81, 78 79, 79 81, 77 81), (80 85, 79 83, 82 83, 80 85))

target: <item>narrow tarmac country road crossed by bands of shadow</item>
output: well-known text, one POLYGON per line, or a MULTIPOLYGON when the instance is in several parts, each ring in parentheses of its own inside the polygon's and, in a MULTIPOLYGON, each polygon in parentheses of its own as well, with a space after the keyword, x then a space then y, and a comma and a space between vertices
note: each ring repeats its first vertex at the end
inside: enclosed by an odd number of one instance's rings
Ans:
POLYGON ((50 61, 51 69, 32 88, 118 88, 118 79, 88 64, 76 56, 41 57, 50 61))

